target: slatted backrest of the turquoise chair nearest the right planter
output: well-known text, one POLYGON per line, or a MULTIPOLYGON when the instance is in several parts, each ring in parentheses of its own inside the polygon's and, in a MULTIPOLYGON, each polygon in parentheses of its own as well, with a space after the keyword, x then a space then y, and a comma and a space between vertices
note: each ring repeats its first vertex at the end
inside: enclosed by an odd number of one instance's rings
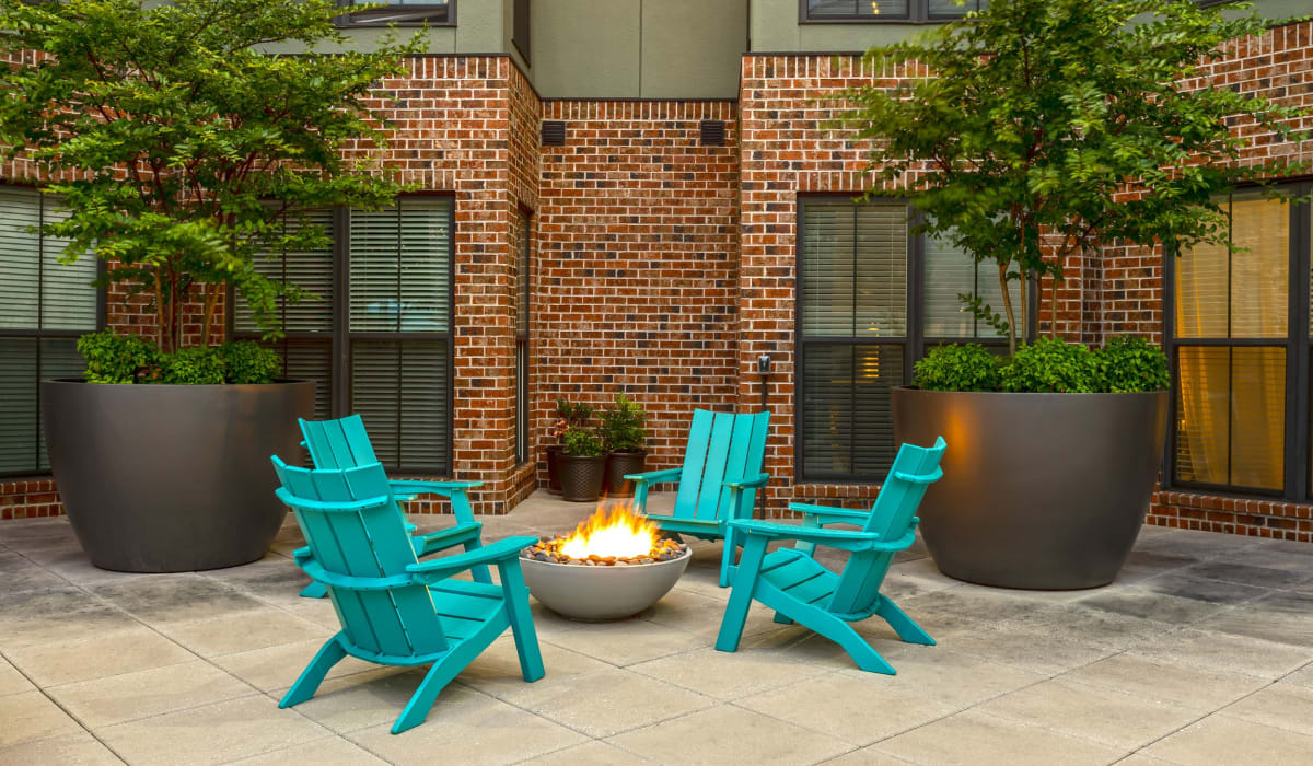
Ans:
MULTIPOLYGON (((871 508, 871 516, 863 526, 864 532, 878 532, 881 540, 890 543, 907 533, 945 448, 943 436, 934 447, 903 444, 898 448, 889 476, 871 508), (911 481, 913 478, 923 481, 911 481)), ((830 611, 852 614, 871 608, 880 597, 880 586, 893 560, 894 553, 890 551, 864 551, 850 556, 830 599, 830 611)))

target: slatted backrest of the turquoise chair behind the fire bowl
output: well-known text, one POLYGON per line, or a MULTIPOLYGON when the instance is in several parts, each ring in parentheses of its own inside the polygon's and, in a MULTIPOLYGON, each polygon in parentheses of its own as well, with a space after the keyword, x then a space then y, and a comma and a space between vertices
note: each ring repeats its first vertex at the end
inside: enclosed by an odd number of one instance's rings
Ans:
POLYGON ((693 410, 672 515, 712 520, 737 518, 735 510, 751 510, 756 490, 743 491, 742 506, 730 508, 730 489, 725 482, 762 473, 769 422, 771 413, 693 410))

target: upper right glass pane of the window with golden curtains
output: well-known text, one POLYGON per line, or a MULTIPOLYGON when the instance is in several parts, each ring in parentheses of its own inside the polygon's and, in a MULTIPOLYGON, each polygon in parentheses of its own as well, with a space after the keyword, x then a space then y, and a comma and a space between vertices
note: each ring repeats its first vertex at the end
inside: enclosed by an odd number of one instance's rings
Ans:
POLYGON ((1285 338, 1289 235, 1284 200, 1266 200, 1259 192, 1232 197, 1232 338, 1285 338))

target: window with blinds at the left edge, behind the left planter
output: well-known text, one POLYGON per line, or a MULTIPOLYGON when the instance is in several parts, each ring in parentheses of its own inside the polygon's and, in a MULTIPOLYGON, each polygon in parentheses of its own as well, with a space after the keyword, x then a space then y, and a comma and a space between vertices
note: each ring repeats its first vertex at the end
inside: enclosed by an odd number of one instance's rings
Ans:
POLYGON ((80 377, 77 336, 101 326, 96 260, 64 265, 66 242, 34 230, 60 215, 56 198, 0 185, 0 476, 50 470, 39 381, 80 377))

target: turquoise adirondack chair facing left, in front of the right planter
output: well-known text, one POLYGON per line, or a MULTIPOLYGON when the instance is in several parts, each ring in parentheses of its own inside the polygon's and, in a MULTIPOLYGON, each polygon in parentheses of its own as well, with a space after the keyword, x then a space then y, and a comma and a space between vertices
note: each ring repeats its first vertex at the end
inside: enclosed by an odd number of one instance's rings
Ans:
POLYGON ((721 652, 738 649, 752 599, 775 610, 775 621, 801 623, 839 644, 859 667, 871 673, 893 675, 894 669, 848 623, 877 615, 903 641, 934 646, 935 640, 889 597, 881 595, 880 586, 894 553, 916 539, 919 519, 913 514, 926 487, 943 476, 939 461, 945 448, 943 436, 930 448, 903 444, 869 512, 790 503, 789 510, 806 514, 804 526, 730 522, 746 539, 742 561, 733 573, 734 591, 725 607, 716 648, 721 652), (856 524, 861 529, 823 528, 834 523, 856 524), (773 540, 797 540, 798 544, 767 554, 765 547, 773 540), (851 552, 840 574, 813 558, 817 545, 851 552))

